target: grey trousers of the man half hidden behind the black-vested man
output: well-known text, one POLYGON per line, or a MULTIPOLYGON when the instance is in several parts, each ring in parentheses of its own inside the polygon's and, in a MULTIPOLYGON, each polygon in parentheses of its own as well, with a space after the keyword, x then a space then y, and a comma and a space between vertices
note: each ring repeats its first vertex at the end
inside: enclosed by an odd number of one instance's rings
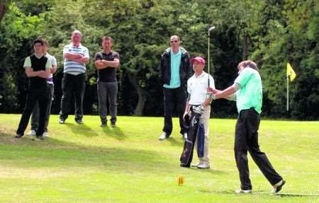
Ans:
MULTIPOLYGON (((47 125, 49 124, 54 89, 55 88, 53 84, 47 84, 48 100, 47 100, 47 110, 45 111, 45 132, 47 132, 47 125)), ((33 108, 32 117, 31 117, 31 129, 33 129, 35 132, 38 130, 38 127, 39 127, 39 117, 40 117, 40 108, 39 108, 39 103, 36 102, 33 108)))

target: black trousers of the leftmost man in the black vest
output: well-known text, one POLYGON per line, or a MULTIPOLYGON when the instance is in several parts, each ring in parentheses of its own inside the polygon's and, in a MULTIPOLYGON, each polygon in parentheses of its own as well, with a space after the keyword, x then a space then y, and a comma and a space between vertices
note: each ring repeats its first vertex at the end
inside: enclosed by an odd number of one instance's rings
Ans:
POLYGON ((45 129, 45 112, 47 110, 47 103, 48 103, 48 97, 47 97, 47 86, 41 87, 38 89, 35 88, 29 88, 28 95, 26 98, 26 105, 23 109, 22 117, 18 126, 18 129, 16 130, 17 134, 24 134, 26 131, 26 127, 28 126, 28 122, 30 120, 30 116, 32 113, 32 110, 35 106, 35 103, 38 102, 39 105, 39 126, 38 131, 36 132, 36 135, 42 135, 45 129))

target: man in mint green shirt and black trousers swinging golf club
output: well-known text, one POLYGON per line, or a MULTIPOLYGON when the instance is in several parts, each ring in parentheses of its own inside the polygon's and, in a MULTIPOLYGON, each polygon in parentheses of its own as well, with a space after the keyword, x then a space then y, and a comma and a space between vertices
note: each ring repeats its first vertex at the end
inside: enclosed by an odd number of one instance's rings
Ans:
POLYGON ((240 189, 236 193, 251 193, 250 171, 248 168, 247 151, 262 171, 267 180, 272 184, 272 193, 277 193, 285 181, 274 170, 266 154, 259 149, 258 129, 260 112, 262 112, 262 79, 260 78, 257 64, 247 60, 237 66, 237 79, 233 86, 223 91, 211 89, 213 98, 227 98, 236 100, 238 119, 235 127, 235 160, 240 175, 240 189))

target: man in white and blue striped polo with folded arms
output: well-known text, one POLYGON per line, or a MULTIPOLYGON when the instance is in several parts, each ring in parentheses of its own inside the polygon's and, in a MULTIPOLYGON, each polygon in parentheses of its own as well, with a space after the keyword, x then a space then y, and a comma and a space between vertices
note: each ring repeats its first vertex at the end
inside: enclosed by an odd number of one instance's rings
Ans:
POLYGON ((82 34, 79 30, 72 33, 72 42, 63 49, 64 69, 62 79, 62 98, 60 124, 64 124, 69 115, 72 97, 75 100, 75 122, 82 124, 83 98, 85 91, 86 64, 89 63, 89 50, 81 45, 82 34))

